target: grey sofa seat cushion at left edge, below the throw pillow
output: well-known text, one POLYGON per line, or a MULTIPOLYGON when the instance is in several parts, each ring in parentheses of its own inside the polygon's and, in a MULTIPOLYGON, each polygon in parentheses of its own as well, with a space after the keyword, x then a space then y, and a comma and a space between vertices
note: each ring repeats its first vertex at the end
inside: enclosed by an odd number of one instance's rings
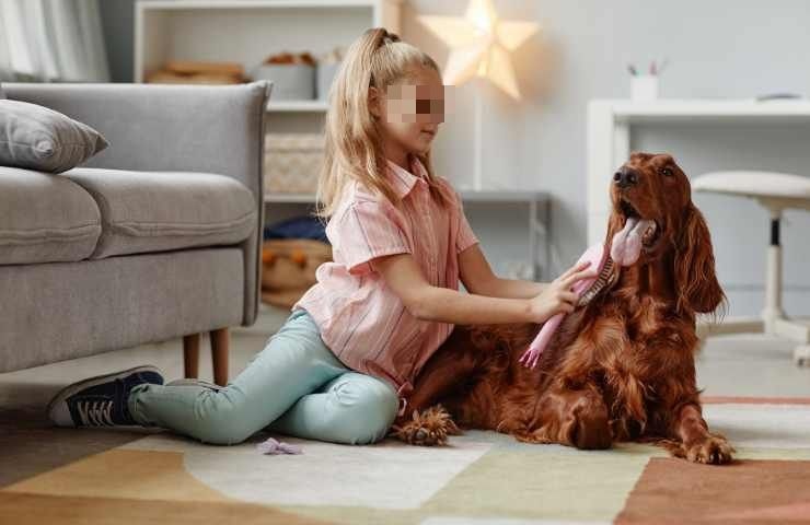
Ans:
POLYGON ((0 166, 0 265, 86 259, 101 230, 95 200, 77 184, 0 166))

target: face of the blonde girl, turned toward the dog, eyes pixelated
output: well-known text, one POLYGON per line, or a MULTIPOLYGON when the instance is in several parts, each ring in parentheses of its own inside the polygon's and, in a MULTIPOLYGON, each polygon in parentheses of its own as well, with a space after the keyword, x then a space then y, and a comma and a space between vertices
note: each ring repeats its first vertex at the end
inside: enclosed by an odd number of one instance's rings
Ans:
POLYGON ((425 154, 430 150, 444 121, 444 85, 437 71, 421 68, 387 86, 385 93, 372 89, 371 96, 386 154, 425 154))

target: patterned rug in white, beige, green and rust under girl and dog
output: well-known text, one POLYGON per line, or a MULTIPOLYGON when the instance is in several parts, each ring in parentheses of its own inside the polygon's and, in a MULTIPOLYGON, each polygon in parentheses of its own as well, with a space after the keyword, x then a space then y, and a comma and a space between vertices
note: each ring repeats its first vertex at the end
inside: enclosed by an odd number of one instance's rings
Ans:
MULTIPOLYGON (((282 438, 201 445, 161 432, 0 490, 2 523, 810 523, 810 399, 706 399, 730 466, 638 444, 580 452, 471 431, 450 446, 351 447, 282 438), (205 521, 205 522, 204 522, 205 521)), ((93 432, 93 431, 84 431, 93 432)))

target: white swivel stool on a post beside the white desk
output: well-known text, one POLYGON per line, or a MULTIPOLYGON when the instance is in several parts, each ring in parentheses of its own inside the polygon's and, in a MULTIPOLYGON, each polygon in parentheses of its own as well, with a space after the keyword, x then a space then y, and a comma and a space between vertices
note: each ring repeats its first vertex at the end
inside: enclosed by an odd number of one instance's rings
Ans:
POLYGON ((810 178, 772 172, 715 172, 692 182, 695 191, 736 195, 756 199, 771 213, 771 245, 767 248, 765 310, 762 320, 727 320, 711 326, 715 334, 764 331, 800 343, 794 351, 797 364, 810 365, 810 325, 790 320, 782 310, 782 246, 779 225, 783 210, 810 210, 810 178))

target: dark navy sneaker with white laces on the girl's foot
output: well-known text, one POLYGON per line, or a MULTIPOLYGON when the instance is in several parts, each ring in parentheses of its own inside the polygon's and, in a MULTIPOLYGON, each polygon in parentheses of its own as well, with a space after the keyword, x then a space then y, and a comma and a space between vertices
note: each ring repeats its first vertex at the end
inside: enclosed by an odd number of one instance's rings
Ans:
POLYGON ((162 385, 154 366, 100 375, 68 385, 48 404, 48 417, 58 427, 116 427, 138 424, 129 413, 129 392, 143 383, 162 385))

